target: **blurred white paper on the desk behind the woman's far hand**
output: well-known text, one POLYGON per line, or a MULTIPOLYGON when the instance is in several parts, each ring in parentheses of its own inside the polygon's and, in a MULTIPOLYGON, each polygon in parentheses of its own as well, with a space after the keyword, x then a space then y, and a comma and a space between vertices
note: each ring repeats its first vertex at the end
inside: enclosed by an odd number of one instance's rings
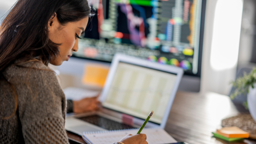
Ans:
POLYGON ((99 91, 68 87, 63 90, 67 100, 78 101, 83 98, 96 97, 99 91))

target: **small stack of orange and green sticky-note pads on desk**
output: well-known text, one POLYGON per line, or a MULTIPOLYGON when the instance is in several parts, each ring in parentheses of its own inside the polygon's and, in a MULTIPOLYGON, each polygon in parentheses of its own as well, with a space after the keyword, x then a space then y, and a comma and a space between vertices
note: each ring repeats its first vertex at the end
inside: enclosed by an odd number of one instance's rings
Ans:
POLYGON ((223 127, 218 129, 215 133, 213 132, 215 138, 221 138, 226 141, 241 140, 244 138, 249 138, 249 133, 241 130, 236 126, 232 127, 223 127))

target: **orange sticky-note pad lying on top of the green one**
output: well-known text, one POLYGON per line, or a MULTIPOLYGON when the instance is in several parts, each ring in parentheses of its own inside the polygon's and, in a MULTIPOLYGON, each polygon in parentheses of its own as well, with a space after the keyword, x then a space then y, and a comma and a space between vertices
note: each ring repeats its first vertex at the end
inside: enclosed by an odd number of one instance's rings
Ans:
POLYGON ((218 129, 216 133, 226 138, 249 138, 248 132, 243 131, 236 126, 223 127, 222 129, 218 129))

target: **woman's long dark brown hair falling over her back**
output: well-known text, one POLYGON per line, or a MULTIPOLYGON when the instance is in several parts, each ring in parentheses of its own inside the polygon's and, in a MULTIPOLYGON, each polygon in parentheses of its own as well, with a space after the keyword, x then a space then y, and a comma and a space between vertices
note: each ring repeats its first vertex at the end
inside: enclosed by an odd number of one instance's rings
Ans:
MULTIPOLYGON (((56 58, 60 44, 49 40, 47 30, 53 14, 65 25, 89 16, 90 10, 87 0, 18 0, 0 26, 0 79, 17 59, 37 59, 47 66, 56 58)), ((18 103, 15 88, 10 85, 16 101, 13 116, 18 103)))

